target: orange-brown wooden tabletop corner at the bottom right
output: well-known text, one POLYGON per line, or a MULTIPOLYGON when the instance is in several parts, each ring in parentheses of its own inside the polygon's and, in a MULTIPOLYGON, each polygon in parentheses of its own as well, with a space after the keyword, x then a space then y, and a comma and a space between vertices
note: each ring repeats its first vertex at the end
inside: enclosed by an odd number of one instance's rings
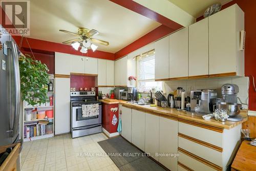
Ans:
POLYGON ((231 168, 234 170, 255 170, 256 146, 249 145, 250 141, 243 141, 234 158, 231 168))

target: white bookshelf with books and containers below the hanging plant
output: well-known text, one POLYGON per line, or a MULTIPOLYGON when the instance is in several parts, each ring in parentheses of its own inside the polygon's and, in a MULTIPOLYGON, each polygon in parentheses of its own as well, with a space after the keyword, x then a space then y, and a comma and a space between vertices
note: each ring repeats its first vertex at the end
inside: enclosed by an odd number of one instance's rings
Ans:
MULTIPOLYGON (((52 80, 52 82, 54 83, 54 88, 55 88, 55 80, 54 78, 50 78, 50 80, 52 80)), ((50 137, 54 137, 54 119, 55 119, 55 89, 53 90, 53 92, 48 92, 48 97, 50 96, 53 96, 53 105, 41 105, 41 106, 37 106, 37 105, 26 105, 25 102, 23 102, 23 126, 22 126, 22 136, 23 136, 23 141, 26 142, 26 141, 33 141, 33 140, 38 140, 38 139, 44 139, 44 138, 50 138, 50 137), (36 108, 37 111, 46 111, 46 110, 53 110, 53 118, 44 118, 44 119, 35 119, 35 120, 29 120, 29 121, 26 121, 26 117, 25 117, 25 109, 30 109, 32 108, 33 110, 36 108), (24 138, 24 124, 26 124, 26 122, 31 122, 31 121, 39 121, 39 120, 49 120, 50 122, 53 123, 53 133, 52 134, 46 134, 46 135, 41 135, 41 136, 34 136, 34 137, 29 137, 29 138, 24 138)))

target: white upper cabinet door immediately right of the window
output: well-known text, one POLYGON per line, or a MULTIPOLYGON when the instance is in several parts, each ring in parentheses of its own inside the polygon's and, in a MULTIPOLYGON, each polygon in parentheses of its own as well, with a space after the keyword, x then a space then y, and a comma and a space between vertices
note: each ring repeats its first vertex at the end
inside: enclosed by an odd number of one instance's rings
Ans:
POLYGON ((155 79, 169 78, 169 36, 155 42, 155 79))

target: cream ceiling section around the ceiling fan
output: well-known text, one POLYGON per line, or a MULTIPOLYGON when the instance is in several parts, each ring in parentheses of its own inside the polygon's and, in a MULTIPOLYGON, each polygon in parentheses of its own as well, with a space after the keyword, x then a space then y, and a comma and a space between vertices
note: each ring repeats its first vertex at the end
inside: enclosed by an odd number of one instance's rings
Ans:
POLYGON ((31 38, 61 43, 75 36, 79 27, 95 29, 94 38, 109 41, 98 50, 115 53, 161 24, 106 0, 31 0, 31 38))

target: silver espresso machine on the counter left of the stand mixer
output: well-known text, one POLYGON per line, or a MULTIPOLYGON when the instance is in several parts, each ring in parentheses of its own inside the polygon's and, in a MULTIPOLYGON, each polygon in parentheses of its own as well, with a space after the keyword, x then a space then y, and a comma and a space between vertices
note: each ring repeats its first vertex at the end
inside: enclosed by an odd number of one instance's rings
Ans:
POLYGON ((217 90, 196 90, 190 93, 190 106, 191 111, 196 111, 202 113, 214 112, 214 105, 217 99, 217 90))

